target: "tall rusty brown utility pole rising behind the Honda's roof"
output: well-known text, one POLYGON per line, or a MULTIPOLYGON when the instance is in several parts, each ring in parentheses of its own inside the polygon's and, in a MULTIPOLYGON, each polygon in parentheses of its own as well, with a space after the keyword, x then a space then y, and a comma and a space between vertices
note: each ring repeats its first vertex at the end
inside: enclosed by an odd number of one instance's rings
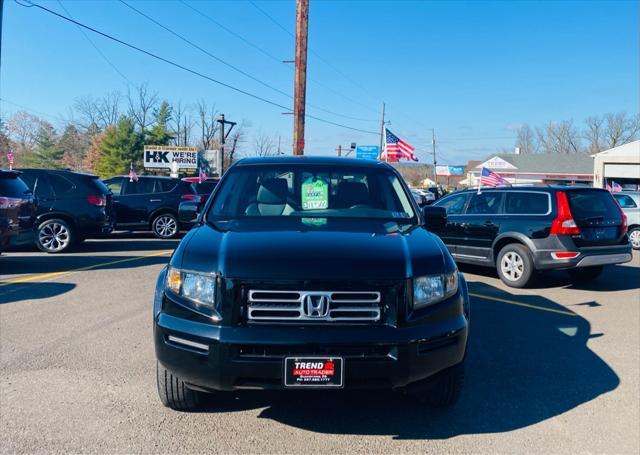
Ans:
POLYGON ((307 95, 307 35, 309 0, 296 0, 296 71, 293 88, 293 154, 304 155, 307 95))

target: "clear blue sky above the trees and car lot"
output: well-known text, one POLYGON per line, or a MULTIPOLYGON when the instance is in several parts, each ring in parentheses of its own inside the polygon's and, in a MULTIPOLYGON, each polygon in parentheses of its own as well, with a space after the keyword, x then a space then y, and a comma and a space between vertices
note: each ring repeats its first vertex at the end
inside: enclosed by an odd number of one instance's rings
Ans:
MULTIPOLYGON (((291 100, 189 47, 113 1, 62 0, 87 25, 283 105, 291 100)), ((63 12, 57 1, 39 3, 63 12)), ((278 63, 177 1, 132 1, 210 53, 287 93, 290 65, 278 63)), ((198 1, 198 9, 281 60, 293 58, 292 37, 251 3, 198 1)), ((295 1, 257 1, 289 31, 295 1)), ((217 86, 99 36, 100 50, 127 79, 172 102, 215 103, 251 133, 282 136, 289 151, 292 118, 282 109, 217 86)), ((387 103, 390 129, 431 161, 431 128, 439 161, 465 163, 513 147, 522 123, 542 125, 612 111, 638 113, 638 2, 404 2, 311 0, 308 113, 378 131, 387 103), (329 65, 326 63, 329 62, 329 65), (321 85, 320 85, 321 84, 321 85)), ((127 83, 78 28, 36 8, 5 1, 0 96, 64 116, 74 99, 127 83)), ((20 108, 3 102, 4 115, 20 108)), ((55 122, 54 122, 55 123, 55 122)), ((372 134, 309 119, 306 153, 334 154, 338 144, 377 144, 372 134)), ((245 145, 250 146, 250 142, 245 145)))

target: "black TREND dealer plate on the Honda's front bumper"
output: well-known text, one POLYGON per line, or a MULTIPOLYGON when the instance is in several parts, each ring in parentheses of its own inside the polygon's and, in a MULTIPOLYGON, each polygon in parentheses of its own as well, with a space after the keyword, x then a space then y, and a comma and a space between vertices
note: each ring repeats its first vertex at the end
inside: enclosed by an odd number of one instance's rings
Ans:
POLYGON ((286 357, 285 387, 342 387, 342 357, 286 357))

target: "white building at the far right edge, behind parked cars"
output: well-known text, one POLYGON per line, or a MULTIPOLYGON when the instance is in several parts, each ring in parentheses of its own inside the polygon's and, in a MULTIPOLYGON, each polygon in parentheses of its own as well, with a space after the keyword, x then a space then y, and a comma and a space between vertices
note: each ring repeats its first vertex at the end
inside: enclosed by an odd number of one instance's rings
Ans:
POLYGON ((640 141, 629 142, 592 155, 593 186, 619 183, 626 190, 640 190, 640 141))

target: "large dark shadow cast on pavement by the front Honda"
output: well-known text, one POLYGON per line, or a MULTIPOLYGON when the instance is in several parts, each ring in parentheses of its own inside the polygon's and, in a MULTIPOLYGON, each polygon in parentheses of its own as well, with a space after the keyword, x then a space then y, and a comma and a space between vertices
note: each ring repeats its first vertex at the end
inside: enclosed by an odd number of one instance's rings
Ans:
MULTIPOLYGON (((511 301, 522 296, 472 283, 511 301)), ((432 409, 393 392, 238 392, 214 395, 205 412, 265 408, 260 417, 329 434, 442 439, 500 433, 534 425, 614 390, 615 372, 587 347, 587 320, 539 296, 524 308, 472 299, 466 383, 459 403, 432 409), (546 309, 546 310, 545 310, 546 309)), ((346 368, 349 365, 346 364, 346 368)))

